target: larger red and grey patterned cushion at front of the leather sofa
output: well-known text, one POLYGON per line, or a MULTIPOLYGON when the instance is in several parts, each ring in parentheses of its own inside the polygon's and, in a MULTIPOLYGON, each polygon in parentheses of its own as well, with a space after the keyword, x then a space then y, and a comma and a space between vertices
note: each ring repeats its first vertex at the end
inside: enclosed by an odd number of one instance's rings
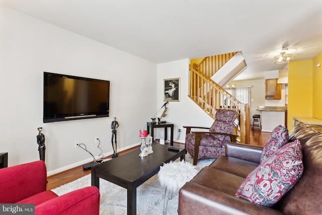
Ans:
POLYGON ((262 206, 273 206, 303 173, 301 144, 298 140, 280 148, 251 172, 235 196, 262 206))

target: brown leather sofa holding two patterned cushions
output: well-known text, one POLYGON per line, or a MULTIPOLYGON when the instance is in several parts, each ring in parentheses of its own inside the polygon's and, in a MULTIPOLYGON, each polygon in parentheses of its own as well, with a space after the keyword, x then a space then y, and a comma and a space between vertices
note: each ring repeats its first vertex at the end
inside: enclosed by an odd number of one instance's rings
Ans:
POLYGON ((322 127, 297 124, 289 142, 299 139, 304 171, 272 208, 234 197, 260 163, 262 147, 227 144, 220 156, 179 191, 179 214, 322 214, 322 127))

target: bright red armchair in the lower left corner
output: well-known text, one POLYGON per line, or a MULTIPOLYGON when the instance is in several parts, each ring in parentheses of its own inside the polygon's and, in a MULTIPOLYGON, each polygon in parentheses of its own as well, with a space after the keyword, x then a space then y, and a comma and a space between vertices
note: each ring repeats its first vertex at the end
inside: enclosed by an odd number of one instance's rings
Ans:
POLYGON ((46 191, 47 169, 43 161, 0 169, 0 203, 34 203, 35 214, 100 213, 100 191, 85 187, 61 196, 46 191))

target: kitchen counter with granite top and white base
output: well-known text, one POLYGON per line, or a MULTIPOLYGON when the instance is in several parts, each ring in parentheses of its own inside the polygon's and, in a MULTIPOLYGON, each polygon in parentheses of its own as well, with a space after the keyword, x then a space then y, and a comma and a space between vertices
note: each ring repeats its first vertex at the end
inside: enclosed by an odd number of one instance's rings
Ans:
POLYGON ((287 106, 258 106, 262 111, 262 131, 272 132, 278 125, 287 127, 287 106))

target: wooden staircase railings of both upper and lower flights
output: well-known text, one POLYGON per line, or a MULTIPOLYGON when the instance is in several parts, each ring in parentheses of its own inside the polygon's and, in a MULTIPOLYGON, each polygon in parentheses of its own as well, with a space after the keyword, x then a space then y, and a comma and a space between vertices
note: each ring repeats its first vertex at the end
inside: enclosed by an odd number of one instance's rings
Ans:
POLYGON ((205 57, 199 64, 190 65, 189 97, 215 119, 217 109, 237 112, 239 125, 235 130, 238 142, 250 142, 250 108, 225 91, 211 77, 237 52, 205 57))

